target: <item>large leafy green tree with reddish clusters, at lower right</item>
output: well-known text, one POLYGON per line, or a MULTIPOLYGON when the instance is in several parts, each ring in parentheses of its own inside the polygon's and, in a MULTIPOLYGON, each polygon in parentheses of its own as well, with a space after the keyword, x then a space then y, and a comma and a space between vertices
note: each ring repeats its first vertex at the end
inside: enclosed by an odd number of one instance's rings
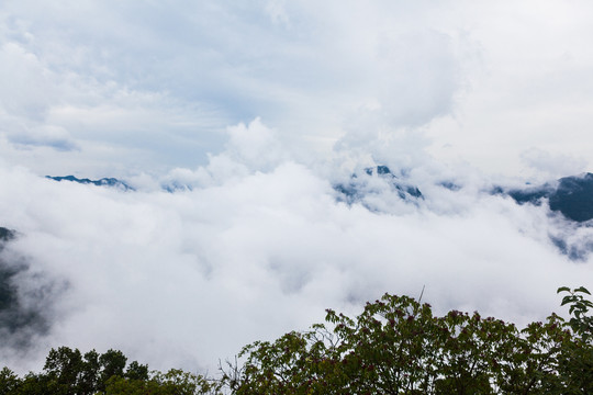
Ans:
POLYGON ((552 314, 518 330, 385 294, 355 318, 329 309, 326 324, 245 347, 223 381, 235 394, 593 394, 580 296, 567 300, 577 320, 552 314))

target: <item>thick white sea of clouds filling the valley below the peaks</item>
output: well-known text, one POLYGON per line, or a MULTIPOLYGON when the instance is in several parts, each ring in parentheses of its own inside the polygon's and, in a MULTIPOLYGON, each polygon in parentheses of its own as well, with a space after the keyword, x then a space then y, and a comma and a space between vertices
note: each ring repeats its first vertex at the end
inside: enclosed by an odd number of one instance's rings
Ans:
POLYGON ((570 261, 549 239, 586 242, 590 232, 555 222, 546 206, 490 196, 468 177, 452 192, 434 183, 439 174, 411 173, 426 185, 421 204, 404 210, 396 191, 379 189, 372 199, 387 212, 371 212, 338 202, 331 179, 304 165, 254 168, 250 153, 271 138, 259 121, 230 133, 239 138, 208 167, 171 172, 192 191, 122 192, 0 168, 2 225, 22 235, 12 249, 41 279, 68 284, 49 298, 52 330, 22 369, 70 345, 213 371, 247 342, 305 329, 326 307, 356 312, 383 292, 426 285, 438 312, 525 323, 557 309, 557 286, 591 286, 590 261, 570 261), (260 144, 243 140, 248 133, 260 144), (214 177, 222 159, 244 171, 214 177))

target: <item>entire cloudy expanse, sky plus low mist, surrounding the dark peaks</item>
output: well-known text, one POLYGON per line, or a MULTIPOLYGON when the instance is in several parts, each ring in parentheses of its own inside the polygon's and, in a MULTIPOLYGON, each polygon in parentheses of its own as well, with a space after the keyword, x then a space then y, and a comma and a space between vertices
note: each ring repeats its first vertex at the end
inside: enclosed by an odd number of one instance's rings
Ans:
POLYGON ((213 370, 423 286, 441 312, 542 319, 556 287, 593 285, 551 239, 592 232, 484 191, 591 171, 592 18, 589 1, 3 1, 0 226, 20 236, 1 253, 44 325, 0 354, 213 370), (377 165, 424 199, 376 177, 340 201, 377 165), (136 191, 44 179, 67 174, 136 191))

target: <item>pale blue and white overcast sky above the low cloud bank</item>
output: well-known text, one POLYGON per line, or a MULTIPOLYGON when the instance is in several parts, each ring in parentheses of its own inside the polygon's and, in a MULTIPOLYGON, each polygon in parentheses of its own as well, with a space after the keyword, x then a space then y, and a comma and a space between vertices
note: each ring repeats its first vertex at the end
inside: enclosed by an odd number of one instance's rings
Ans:
MULTIPOLYGON (((217 132, 256 116, 299 157, 332 155, 342 137, 380 147, 402 128, 427 136, 421 149, 440 160, 491 172, 526 171, 521 153, 532 147, 591 154, 575 143, 592 113, 583 1, 23 1, 0 11, 7 127, 63 127, 78 162, 93 160, 85 139, 142 148, 145 171, 195 167, 222 147, 217 132)), ((71 161, 63 154, 45 167, 71 161)))

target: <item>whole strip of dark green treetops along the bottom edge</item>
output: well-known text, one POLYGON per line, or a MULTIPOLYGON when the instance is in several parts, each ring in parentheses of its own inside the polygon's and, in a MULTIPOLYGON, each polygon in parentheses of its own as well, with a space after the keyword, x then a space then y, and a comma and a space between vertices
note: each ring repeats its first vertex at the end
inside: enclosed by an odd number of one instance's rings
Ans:
POLYGON ((350 318, 246 346, 219 379, 149 372, 120 351, 52 350, 43 373, 0 371, 4 394, 593 394, 593 307, 571 291, 556 314, 523 329, 478 313, 443 317, 428 304, 385 294, 350 318))

